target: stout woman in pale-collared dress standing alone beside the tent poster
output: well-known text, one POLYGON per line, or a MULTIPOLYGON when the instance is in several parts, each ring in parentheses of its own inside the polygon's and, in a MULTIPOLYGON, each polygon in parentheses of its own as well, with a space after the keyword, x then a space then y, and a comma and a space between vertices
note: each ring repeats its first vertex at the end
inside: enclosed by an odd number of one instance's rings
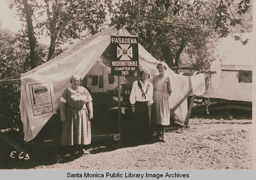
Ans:
POLYGON ((73 75, 70 83, 60 98, 61 145, 72 146, 75 153, 88 153, 84 145, 91 143, 92 97, 80 86, 79 75, 73 75))

